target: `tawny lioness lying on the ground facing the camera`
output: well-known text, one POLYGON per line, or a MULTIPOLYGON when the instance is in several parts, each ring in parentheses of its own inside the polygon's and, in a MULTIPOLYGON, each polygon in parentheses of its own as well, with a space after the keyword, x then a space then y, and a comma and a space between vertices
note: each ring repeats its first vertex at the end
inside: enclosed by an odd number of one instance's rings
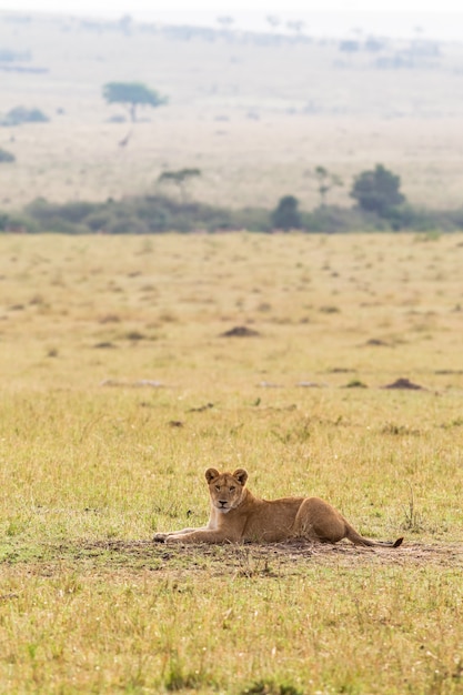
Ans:
POLYGON ((211 496, 211 515, 207 526, 157 533, 154 541, 164 543, 238 543, 258 541, 275 543, 302 536, 310 541, 336 543, 349 538, 355 545, 399 547, 403 538, 374 542, 361 536, 331 504, 320 497, 282 497, 261 500, 245 487, 248 473, 219 473, 208 469, 205 480, 211 496))

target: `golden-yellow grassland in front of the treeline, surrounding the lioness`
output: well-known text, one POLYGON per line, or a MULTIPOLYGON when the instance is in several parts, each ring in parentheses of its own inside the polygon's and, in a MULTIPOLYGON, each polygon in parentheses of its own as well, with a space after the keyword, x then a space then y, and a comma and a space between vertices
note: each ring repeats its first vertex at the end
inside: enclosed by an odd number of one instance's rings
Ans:
POLYGON ((0 689, 461 693, 462 254, 0 236, 0 689), (404 546, 153 544, 210 465, 404 546))

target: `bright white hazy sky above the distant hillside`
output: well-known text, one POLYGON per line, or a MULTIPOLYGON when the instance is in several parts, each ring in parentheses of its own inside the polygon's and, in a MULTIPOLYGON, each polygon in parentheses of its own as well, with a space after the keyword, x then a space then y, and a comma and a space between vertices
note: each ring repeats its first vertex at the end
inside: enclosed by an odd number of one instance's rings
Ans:
POLYGON ((278 16, 282 26, 302 19, 309 32, 365 31, 463 40, 463 0, 0 0, 0 10, 120 17, 138 20, 217 23, 229 14, 235 27, 266 28, 265 18, 278 16))

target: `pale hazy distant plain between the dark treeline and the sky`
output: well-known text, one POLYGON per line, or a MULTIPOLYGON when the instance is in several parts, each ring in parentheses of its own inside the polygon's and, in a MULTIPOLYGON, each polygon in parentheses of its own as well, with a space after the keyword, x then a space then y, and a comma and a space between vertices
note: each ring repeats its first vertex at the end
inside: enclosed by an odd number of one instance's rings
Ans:
POLYGON ((37 197, 149 193, 162 171, 183 168, 201 170, 190 193, 203 202, 271 209, 293 194, 311 209, 320 202, 318 165, 344 181, 329 203, 351 205, 353 177, 379 162, 401 175, 413 204, 461 205, 461 44, 394 70, 374 61, 406 53, 410 42, 349 57, 338 40, 172 36, 139 26, 124 36, 77 18, 20 19, 0 13, 0 44, 29 57, 17 61, 21 72, 0 64, 0 114, 33 107, 50 122, 0 128, 0 147, 17 158, 0 167, 0 209, 37 197), (127 108, 102 97, 114 80, 144 82, 169 104, 141 109, 133 127, 127 108))

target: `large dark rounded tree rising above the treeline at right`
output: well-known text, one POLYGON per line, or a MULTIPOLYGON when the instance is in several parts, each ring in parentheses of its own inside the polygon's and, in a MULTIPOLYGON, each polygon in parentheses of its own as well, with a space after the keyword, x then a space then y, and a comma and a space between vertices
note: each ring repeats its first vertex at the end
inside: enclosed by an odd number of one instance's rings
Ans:
POLYGON ((387 218, 405 201, 400 192, 401 179, 382 164, 373 171, 363 171, 354 179, 351 197, 366 211, 387 218))

